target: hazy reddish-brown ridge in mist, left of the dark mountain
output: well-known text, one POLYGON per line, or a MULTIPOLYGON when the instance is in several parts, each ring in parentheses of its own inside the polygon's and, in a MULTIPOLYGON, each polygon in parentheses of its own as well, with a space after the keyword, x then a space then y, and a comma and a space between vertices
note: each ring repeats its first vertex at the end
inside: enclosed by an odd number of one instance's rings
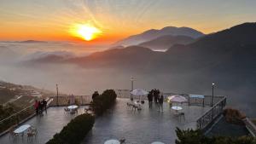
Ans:
POLYGON ((160 54, 148 48, 131 46, 125 49, 108 49, 89 56, 73 58, 68 62, 85 67, 123 67, 143 69, 151 65, 160 54))

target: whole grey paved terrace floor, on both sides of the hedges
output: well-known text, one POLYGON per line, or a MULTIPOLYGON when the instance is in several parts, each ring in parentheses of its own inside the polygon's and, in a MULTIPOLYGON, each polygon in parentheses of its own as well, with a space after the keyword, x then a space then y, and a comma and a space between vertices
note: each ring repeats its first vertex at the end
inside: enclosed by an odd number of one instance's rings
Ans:
MULTIPOLYGON (((148 144, 152 141, 162 141, 166 144, 174 143, 175 129, 195 128, 195 120, 206 112, 209 107, 195 107, 181 105, 185 112, 185 120, 174 116, 169 104, 164 103, 164 112, 158 112, 148 108, 148 101, 140 112, 131 111, 126 107, 128 99, 118 99, 113 113, 107 112, 102 117, 96 118, 96 123, 90 133, 84 138, 82 144, 103 144, 108 139, 125 138, 127 143, 148 144)), ((84 107, 79 109, 83 112, 84 107)), ((64 114, 63 107, 50 107, 44 116, 34 117, 25 124, 34 125, 38 129, 38 135, 33 141, 27 141, 26 136, 17 140, 9 139, 9 134, 0 137, 2 144, 43 144, 49 141, 56 132, 62 130, 75 116, 64 114)))

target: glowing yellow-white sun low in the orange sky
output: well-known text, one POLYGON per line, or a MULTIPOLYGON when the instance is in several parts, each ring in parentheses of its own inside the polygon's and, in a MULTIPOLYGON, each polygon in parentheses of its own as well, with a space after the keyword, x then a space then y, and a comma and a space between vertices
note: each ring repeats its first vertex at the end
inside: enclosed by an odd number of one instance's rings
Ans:
POLYGON ((91 41, 102 33, 100 29, 90 24, 76 24, 70 32, 73 36, 80 37, 86 41, 91 41))

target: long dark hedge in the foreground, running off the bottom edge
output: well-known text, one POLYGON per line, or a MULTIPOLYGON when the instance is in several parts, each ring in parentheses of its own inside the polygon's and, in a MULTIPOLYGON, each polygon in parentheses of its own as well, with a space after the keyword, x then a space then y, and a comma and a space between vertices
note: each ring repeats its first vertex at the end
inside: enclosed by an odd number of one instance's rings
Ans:
POLYGON ((56 133, 47 144, 79 144, 91 130, 95 118, 90 114, 81 114, 70 121, 60 133, 56 133))

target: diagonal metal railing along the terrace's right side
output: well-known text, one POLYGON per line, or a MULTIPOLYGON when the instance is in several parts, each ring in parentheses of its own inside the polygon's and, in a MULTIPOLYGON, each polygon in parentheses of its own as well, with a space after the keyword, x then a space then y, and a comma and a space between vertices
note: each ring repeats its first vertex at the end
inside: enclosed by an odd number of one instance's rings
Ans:
POLYGON ((217 118, 223 111, 226 106, 226 97, 218 101, 211 109, 205 112, 201 118, 198 118, 196 121, 198 129, 205 129, 209 124, 211 124, 215 118, 217 118))

